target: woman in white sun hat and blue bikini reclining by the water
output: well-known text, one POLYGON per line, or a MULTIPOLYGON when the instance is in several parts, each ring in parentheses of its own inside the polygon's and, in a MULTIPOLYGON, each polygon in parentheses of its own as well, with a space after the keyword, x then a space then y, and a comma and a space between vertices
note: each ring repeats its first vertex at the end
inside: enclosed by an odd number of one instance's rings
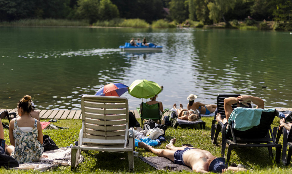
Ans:
POLYGON ((194 102, 197 98, 197 95, 190 94, 187 98, 189 101, 188 103, 188 110, 199 110, 201 114, 209 115, 210 113, 215 112, 217 105, 215 104, 203 104, 200 102, 194 102))

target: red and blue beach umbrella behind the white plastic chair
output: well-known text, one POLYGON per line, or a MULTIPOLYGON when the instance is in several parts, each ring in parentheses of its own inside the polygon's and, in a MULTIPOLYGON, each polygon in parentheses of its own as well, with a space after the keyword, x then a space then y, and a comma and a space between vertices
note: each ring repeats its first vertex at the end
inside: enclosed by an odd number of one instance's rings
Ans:
POLYGON ((98 89, 95 95, 120 97, 122 94, 128 91, 128 88, 129 86, 124 85, 123 83, 110 83, 98 89))

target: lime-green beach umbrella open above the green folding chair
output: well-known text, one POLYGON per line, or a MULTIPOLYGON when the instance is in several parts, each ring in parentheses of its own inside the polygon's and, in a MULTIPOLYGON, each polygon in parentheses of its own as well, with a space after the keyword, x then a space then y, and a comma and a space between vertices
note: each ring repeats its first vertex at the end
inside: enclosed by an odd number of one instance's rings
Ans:
POLYGON ((136 98, 152 98, 159 94, 162 89, 160 86, 148 80, 135 80, 128 88, 129 94, 136 98))

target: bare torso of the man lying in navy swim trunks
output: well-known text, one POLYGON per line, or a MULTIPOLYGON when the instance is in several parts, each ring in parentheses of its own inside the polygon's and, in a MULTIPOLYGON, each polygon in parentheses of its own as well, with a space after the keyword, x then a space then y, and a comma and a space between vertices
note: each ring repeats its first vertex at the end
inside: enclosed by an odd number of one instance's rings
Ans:
POLYGON ((192 167, 192 170, 196 172, 208 171, 211 161, 215 158, 209 151, 202 149, 190 149, 183 155, 185 165, 192 167))

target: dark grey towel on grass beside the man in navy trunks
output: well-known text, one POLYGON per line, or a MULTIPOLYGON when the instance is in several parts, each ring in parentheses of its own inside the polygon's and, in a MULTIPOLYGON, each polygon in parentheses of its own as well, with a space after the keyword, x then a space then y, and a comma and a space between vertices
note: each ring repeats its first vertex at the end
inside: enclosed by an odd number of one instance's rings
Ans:
POLYGON ((139 157, 145 163, 151 165, 157 170, 188 171, 192 170, 184 165, 174 164, 171 160, 164 157, 139 157))

